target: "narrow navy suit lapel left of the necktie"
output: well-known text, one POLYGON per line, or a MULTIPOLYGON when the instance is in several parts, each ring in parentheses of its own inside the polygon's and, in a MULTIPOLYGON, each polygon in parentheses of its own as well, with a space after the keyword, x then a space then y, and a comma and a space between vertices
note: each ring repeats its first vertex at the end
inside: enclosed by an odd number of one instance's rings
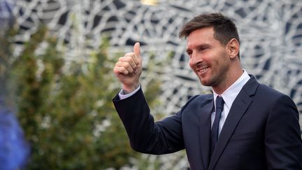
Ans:
POLYGON ((202 161, 204 165, 204 169, 208 169, 208 164, 210 160, 210 122, 211 122, 211 113, 213 112, 213 95, 211 95, 205 105, 203 105, 199 112, 201 113, 199 116, 199 141, 201 148, 202 161))

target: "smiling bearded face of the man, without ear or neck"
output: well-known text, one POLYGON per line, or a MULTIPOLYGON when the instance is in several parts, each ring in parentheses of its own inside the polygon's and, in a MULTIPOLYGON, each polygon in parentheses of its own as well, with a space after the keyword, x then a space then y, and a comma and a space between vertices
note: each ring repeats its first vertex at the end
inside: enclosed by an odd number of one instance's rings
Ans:
POLYGON ((189 66, 196 73, 202 85, 223 87, 231 59, 227 45, 214 38, 213 27, 196 29, 187 36, 189 66))

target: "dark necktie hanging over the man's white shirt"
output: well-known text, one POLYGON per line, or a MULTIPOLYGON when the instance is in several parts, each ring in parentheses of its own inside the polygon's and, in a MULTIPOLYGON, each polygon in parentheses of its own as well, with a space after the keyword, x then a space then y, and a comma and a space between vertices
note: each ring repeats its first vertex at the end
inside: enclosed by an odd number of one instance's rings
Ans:
POLYGON ((224 106, 224 100, 222 99, 222 97, 217 96, 215 104, 216 104, 216 111, 215 111, 215 120, 213 122, 212 130, 211 130, 210 155, 213 154, 213 150, 218 140, 220 117, 224 106))

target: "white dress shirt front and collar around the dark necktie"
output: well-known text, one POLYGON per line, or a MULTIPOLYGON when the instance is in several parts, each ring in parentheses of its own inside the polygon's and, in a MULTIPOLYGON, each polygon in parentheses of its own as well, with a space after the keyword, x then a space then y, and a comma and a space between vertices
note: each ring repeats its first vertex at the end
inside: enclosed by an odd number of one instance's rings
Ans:
MULTIPOLYGON (((224 99, 224 109, 222 111, 221 117, 220 117, 220 124, 219 124, 219 130, 218 134, 220 134, 222 127, 224 125, 225 120, 227 119, 227 115, 229 115, 229 110, 233 104, 233 101, 236 99, 237 95, 239 94, 240 90, 243 88, 243 85, 247 83, 247 81, 250 80, 250 76, 247 74, 247 71, 243 70, 243 74, 236 80, 233 85, 231 85, 227 90, 225 90, 222 94, 217 94, 213 90, 214 94, 214 101, 216 101, 216 97, 219 95, 224 99)), ((214 102, 215 104, 215 102, 214 102)), ((216 106, 216 104, 215 104, 216 106)), ((216 108, 216 107, 215 107, 216 108)), ((213 122, 215 119, 215 112, 211 115, 211 126, 213 126, 213 122)))

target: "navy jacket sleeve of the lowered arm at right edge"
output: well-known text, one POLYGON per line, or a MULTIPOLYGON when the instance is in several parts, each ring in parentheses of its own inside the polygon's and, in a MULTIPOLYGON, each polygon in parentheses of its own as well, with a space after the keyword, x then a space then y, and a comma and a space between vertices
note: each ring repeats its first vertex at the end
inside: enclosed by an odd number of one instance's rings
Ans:
POLYGON ((294 101, 285 95, 269 111, 265 147, 268 169, 302 169, 299 113, 294 101))

